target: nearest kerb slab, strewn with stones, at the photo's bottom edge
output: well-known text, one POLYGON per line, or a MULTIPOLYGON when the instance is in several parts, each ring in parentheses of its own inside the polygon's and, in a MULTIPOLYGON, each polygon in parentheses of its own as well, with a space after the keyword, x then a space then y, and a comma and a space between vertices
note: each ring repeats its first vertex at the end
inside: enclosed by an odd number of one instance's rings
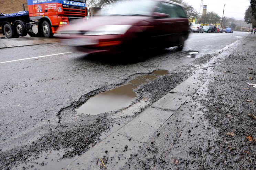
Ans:
POLYGON ((107 169, 119 169, 124 166, 131 154, 137 152, 140 145, 141 143, 134 139, 129 140, 126 136, 113 133, 63 170, 99 170, 102 164, 100 158, 107 169))

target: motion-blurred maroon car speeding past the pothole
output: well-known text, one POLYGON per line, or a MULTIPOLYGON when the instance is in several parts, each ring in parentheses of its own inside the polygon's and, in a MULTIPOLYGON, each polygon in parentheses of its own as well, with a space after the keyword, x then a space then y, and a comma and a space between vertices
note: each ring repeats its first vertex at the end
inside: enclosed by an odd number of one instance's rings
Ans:
MULTIPOLYGON (((82 23, 81 23, 82 22, 82 23)), ((120 1, 87 21, 59 33, 65 44, 86 53, 122 53, 178 46, 189 35, 183 6, 169 0, 120 1)))

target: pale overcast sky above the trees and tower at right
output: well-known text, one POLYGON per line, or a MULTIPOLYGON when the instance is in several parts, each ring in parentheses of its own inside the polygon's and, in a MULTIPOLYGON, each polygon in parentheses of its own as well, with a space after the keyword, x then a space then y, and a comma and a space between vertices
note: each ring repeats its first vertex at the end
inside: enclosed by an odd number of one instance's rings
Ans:
MULTIPOLYGON (((190 5, 199 11, 201 0, 186 0, 190 5)), ((207 12, 213 11, 222 17, 224 4, 224 16, 234 17, 237 20, 244 19, 245 10, 250 5, 249 0, 204 0, 203 5, 207 5, 207 12)))

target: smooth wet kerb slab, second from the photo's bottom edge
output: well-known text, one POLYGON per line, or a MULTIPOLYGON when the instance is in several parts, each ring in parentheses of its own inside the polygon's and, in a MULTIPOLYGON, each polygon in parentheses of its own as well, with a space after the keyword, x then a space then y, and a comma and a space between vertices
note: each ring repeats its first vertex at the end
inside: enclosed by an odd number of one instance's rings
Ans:
POLYGON ((172 115, 173 112, 166 112, 149 107, 124 127, 119 129, 117 133, 140 142, 146 142, 172 115))

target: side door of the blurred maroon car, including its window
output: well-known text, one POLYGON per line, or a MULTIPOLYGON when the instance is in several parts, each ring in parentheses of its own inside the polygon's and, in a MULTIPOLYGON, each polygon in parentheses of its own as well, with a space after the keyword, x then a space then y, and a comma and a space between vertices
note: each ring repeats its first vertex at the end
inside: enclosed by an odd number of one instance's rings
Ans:
POLYGON ((173 10, 174 5, 168 2, 160 2, 156 12, 168 14, 168 18, 156 19, 161 23, 161 44, 163 46, 170 46, 177 41, 177 14, 173 10))

